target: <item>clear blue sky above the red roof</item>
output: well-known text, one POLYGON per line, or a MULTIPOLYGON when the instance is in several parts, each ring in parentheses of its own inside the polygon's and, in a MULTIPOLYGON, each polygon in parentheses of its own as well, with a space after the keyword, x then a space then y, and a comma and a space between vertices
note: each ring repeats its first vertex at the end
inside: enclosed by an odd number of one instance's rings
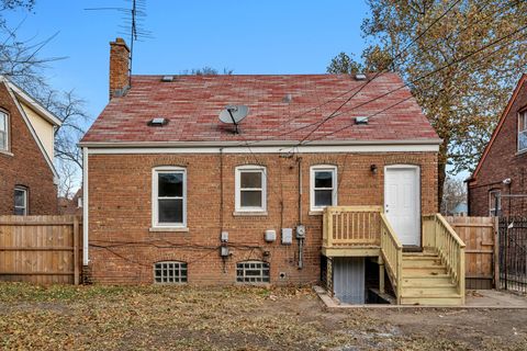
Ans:
MULTIPOLYGON (((210 66, 234 73, 322 73, 340 52, 360 54, 361 0, 179 1, 146 0, 142 27, 153 38, 135 44, 134 73, 180 73, 210 66)), ((109 42, 122 33, 126 0, 36 0, 32 13, 7 15, 21 38, 58 35, 42 57, 67 57, 47 70, 60 90, 75 89, 96 117, 108 102, 109 42)))

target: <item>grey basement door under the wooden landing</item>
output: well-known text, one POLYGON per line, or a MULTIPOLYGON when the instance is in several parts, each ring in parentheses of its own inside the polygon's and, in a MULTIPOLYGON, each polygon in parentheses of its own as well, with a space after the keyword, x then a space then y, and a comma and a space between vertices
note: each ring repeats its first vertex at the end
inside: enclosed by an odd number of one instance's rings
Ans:
POLYGON ((333 290, 345 304, 365 304, 365 258, 338 257, 333 259, 333 290))

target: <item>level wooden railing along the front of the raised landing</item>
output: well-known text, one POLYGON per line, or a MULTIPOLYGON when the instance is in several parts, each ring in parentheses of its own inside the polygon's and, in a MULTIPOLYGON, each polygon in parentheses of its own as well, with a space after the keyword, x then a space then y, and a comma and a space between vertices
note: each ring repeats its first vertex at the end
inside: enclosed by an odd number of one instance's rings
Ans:
POLYGON ((324 210, 323 245, 379 246, 381 206, 330 206, 324 210))

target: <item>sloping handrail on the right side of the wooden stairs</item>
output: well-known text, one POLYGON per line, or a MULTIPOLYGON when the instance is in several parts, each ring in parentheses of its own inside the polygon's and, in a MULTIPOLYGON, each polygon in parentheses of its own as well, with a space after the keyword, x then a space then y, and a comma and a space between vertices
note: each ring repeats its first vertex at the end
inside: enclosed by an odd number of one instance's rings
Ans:
POLYGON ((448 273, 456 283, 461 303, 464 304, 464 242, 445 217, 437 213, 427 216, 434 220, 434 248, 445 262, 448 273))

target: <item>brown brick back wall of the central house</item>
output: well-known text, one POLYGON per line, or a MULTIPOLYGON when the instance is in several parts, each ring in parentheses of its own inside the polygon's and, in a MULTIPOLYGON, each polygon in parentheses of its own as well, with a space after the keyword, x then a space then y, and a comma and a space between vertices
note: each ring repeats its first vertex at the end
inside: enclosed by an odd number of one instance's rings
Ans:
POLYGON ((90 271, 94 282, 152 283, 153 263, 188 262, 189 283, 232 284, 236 262, 256 259, 270 262, 272 284, 319 280, 322 216, 310 215, 310 167, 338 166, 339 205, 382 205, 383 166, 421 166, 422 208, 437 212, 437 158, 435 152, 303 154, 303 223, 307 234, 304 269, 298 269, 298 241, 280 244, 280 228, 299 222, 299 162, 279 155, 256 155, 267 167, 266 216, 235 216, 235 167, 255 163, 255 156, 223 156, 223 226, 220 155, 90 155, 89 226, 90 271), (370 165, 378 166, 372 174, 370 165), (187 168, 188 233, 152 233, 152 169, 187 168), (220 233, 227 230, 233 253, 225 264, 218 249, 220 233), (264 231, 277 230, 277 241, 266 244, 264 231), (120 241, 121 245, 115 245, 120 241), (112 244, 113 242, 113 244, 112 244), (169 247, 168 247, 169 246, 169 247), (280 279, 280 273, 285 273, 280 279))

